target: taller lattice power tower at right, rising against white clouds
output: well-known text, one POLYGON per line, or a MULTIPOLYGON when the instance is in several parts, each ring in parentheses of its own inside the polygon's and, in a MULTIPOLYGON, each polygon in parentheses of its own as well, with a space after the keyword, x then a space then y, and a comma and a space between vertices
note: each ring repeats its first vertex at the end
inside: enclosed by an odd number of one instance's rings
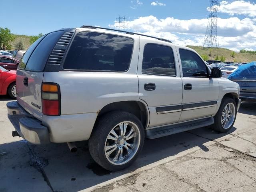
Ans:
POLYGON ((219 1, 218 0, 209 0, 209 15, 208 15, 208 24, 204 37, 203 47, 217 47, 217 22, 218 22, 218 13, 219 13, 219 1))

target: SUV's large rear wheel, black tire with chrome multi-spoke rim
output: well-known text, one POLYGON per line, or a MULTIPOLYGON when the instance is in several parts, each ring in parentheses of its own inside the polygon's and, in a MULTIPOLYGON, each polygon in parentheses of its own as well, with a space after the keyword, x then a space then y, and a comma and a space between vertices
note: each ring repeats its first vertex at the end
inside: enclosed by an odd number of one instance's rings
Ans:
POLYGON ((114 111, 102 116, 89 139, 92 158, 110 171, 122 170, 137 158, 144 144, 144 128, 133 114, 114 111))

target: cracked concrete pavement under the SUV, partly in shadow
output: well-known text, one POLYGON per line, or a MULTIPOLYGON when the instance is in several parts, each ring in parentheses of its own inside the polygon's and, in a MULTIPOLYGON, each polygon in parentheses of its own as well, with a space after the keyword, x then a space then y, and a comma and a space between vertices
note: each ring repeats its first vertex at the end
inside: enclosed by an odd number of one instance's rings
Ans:
POLYGON ((256 190, 256 104, 242 103, 228 134, 199 128, 146 140, 131 168, 109 172, 92 160, 86 142, 70 153, 66 144, 12 138, 6 102, 0 96, 0 192, 256 190))

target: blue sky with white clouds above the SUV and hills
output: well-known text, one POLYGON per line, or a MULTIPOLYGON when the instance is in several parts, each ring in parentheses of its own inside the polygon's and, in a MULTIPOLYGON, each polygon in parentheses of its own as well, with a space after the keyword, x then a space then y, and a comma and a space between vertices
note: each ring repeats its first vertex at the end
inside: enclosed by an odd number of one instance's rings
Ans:
MULTIPOLYGON (((171 40, 180 45, 204 44, 208 0, 0 0, 0 27, 14 34, 37 35, 82 25, 116 28, 171 40), (6 8, 3 8, 6 7, 6 8)), ((256 0, 220 0, 219 46, 238 52, 256 50, 256 0)))

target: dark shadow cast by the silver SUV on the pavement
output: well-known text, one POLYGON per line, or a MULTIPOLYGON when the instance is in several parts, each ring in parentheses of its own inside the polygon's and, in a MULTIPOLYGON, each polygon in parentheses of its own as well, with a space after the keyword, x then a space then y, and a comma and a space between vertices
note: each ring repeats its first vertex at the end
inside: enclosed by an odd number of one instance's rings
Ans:
MULTIPOLYGON (((229 133, 235 130, 236 128, 233 127, 229 133)), ((0 152, 7 152, 2 158, 0 156, 0 168, 3 168, 3 171, 0 172, 0 178, 4 178, 1 183, 3 187, 8 187, 9 183, 22 182, 26 185, 31 185, 31 191, 34 190, 35 185, 38 185, 37 191, 40 191, 40 186, 45 181, 44 185, 48 183, 54 191, 76 192, 133 172, 138 168, 196 146, 199 147, 198 150, 201 148, 207 152, 209 149, 204 145, 206 142, 221 138, 229 133, 220 134, 204 127, 154 140, 146 139, 142 153, 136 162, 130 168, 119 172, 104 170, 96 164, 90 156, 88 142, 76 142, 78 147, 76 153, 71 153, 66 143, 33 145, 22 140, 1 144, 0 152), (6 162, 8 162, 7 165, 6 162), (21 162, 23 165, 21 165, 21 162), (1 166, 1 164, 5 164, 5 166, 1 166), (30 166, 24 166, 24 164, 30 166), (30 177, 32 176, 29 176, 31 166, 34 167, 32 170, 42 174, 44 181, 31 182, 32 178, 30 177), (17 170, 24 173, 24 176, 19 176, 18 179, 15 176, 13 177, 16 174, 11 174, 11 172, 17 170)), ((16 184, 16 186, 18 190, 19 185, 16 184)), ((30 191, 30 187, 27 188, 28 190, 26 191, 30 191)))

